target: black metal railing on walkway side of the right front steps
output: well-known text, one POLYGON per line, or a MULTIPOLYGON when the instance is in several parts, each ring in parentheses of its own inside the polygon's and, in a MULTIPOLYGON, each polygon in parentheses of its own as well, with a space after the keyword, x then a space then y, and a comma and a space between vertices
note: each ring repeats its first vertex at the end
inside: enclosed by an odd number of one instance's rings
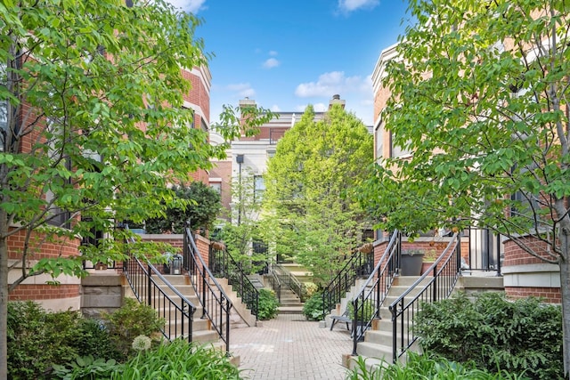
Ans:
POLYGON ((371 328, 372 320, 380 318, 380 307, 399 271, 401 255, 402 234, 396 230, 371 275, 351 301, 353 304, 353 355, 357 355, 356 346, 364 339, 366 331, 371 328))

